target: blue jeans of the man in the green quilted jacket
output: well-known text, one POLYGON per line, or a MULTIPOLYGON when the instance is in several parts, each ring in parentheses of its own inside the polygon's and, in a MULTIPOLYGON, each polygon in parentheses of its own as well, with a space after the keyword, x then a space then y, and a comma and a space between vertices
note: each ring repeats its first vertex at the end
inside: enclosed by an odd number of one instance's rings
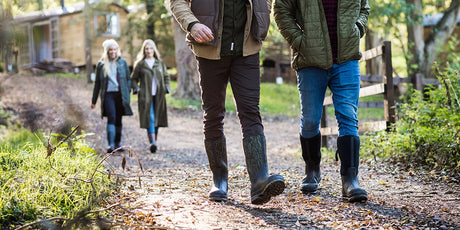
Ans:
POLYGON ((332 92, 339 136, 358 136, 358 100, 360 71, 357 60, 334 64, 324 70, 303 68, 297 71, 300 93, 300 135, 312 138, 319 134, 323 102, 327 87, 332 92))

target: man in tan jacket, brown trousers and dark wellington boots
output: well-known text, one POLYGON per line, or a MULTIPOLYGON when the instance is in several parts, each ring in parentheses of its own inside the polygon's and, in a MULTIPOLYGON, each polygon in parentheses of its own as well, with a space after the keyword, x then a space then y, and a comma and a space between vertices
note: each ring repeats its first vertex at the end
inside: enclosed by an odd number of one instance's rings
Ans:
POLYGON ((204 144, 213 174, 213 201, 227 200, 225 94, 230 81, 243 133, 251 203, 264 204, 284 191, 281 175, 268 175, 259 112, 259 51, 270 25, 271 0, 171 0, 171 11, 196 55, 204 110, 204 144))

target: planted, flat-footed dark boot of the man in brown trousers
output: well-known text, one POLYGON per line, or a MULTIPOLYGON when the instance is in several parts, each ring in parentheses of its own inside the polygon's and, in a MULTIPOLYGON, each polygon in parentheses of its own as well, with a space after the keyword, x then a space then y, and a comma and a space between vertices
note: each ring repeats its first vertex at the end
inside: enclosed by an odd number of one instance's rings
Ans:
POLYGON ((204 146, 212 171, 214 186, 209 191, 209 199, 226 201, 228 189, 227 147, 225 136, 217 139, 205 139, 204 146))

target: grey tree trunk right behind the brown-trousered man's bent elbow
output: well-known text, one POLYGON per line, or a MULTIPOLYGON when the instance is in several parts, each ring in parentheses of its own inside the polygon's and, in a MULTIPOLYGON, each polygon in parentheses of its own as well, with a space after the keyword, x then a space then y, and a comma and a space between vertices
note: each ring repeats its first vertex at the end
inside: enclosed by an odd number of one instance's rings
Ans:
POLYGON ((185 32, 174 18, 171 19, 174 31, 174 44, 177 63, 177 90, 173 95, 182 99, 200 98, 199 76, 196 59, 185 42, 185 32))

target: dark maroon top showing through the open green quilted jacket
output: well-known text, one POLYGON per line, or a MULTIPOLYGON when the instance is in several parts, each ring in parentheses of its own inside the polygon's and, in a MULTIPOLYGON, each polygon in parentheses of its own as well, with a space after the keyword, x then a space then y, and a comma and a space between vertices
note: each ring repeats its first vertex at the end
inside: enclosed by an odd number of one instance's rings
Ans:
POLYGON ((338 0, 323 0, 334 64, 337 63, 337 5, 338 0))

